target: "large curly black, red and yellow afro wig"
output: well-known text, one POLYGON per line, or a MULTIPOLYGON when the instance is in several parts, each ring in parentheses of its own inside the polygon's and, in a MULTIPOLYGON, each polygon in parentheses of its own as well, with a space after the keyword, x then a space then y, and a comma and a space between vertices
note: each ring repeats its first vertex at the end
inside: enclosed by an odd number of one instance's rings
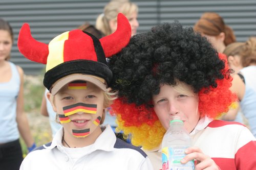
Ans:
POLYGON ((232 78, 226 56, 178 21, 133 36, 109 66, 114 76, 111 87, 119 91, 111 110, 117 129, 131 134, 132 143, 144 149, 158 147, 165 133, 152 105, 161 84, 175 86, 181 81, 193 87, 201 117, 216 118, 237 100, 229 90, 232 78))

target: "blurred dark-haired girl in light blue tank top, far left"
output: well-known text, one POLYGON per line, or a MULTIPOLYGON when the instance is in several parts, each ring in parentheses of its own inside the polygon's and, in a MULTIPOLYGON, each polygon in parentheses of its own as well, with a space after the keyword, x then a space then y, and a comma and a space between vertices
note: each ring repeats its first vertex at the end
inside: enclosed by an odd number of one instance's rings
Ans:
POLYGON ((11 26, 0 18, 0 169, 3 170, 19 169, 23 161, 19 134, 29 152, 36 147, 24 113, 24 72, 9 61, 13 40, 11 26))

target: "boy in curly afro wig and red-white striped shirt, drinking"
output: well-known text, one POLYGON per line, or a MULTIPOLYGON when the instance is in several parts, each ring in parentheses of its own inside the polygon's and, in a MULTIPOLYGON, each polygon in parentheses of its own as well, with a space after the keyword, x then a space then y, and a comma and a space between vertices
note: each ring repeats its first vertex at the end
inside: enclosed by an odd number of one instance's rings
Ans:
POLYGON ((255 169, 256 142, 242 124, 218 120, 237 100, 231 69, 206 38, 177 21, 135 35, 110 59, 112 104, 118 130, 131 134, 154 169, 161 169, 161 142, 169 121, 179 116, 193 147, 181 163, 196 169, 255 169))

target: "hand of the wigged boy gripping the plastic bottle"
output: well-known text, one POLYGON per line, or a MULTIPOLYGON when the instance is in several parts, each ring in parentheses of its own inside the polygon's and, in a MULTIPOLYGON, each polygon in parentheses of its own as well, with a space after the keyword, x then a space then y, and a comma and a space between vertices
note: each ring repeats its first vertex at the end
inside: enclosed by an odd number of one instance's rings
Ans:
POLYGON ((196 160, 195 165, 196 170, 207 169, 207 170, 219 170, 219 166, 212 160, 208 155, 203 154, 203 152, 198 147, 187 148, 185 153, 187 154, 181 163, 187 163, 190 160, 196 160))

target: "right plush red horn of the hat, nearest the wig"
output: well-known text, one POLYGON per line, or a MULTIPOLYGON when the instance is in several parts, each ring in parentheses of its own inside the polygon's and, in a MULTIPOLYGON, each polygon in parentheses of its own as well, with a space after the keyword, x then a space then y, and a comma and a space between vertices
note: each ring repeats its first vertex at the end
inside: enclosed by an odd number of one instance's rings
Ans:
POLYGON ((100 39, 106 57, 110 57, 122 50, 131 38, 132 29, 128 19, 119 13, 117 16, 117 29, 109 36, 100 39))

